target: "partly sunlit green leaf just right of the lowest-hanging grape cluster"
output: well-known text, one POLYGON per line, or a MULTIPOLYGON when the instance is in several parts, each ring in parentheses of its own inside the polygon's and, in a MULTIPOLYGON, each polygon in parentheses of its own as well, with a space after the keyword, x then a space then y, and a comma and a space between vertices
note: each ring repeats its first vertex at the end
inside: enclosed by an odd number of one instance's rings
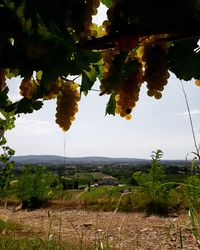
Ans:
POLYGON ((84 92, 85 95, 88 94, 88 91, 91 90, 97 78, 97 71, 95 67, 91 67, 91 70, 83 71, 82 73, 82 83, 81 83, 81 92, 84 92))

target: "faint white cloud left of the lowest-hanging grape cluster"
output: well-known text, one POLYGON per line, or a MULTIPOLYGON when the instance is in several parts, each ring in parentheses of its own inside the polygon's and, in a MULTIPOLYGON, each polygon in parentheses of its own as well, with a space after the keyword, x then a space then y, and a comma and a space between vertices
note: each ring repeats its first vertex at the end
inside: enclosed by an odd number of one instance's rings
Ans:
POLYGON ((18 118, 15 122, 15 135, 18 136, 38 136, 38 135, 52 135, 56 132, 54 124, 48 121, 37 119, 18 118))

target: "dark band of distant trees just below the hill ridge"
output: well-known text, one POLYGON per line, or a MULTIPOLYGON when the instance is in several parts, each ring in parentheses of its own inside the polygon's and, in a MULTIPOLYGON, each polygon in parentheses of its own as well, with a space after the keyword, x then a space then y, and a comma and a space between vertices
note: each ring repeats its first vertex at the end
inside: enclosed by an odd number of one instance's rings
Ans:
MULTIPOLYGON (((189 174, 191 171, 192 161, 161 161, 166 174, 189 174)), ((196 164, 200 162, 196 161, 196 164)), ((38 166, 43 164, 16 164, 14 172, 20 174, 24 165, 38 166)), ((56 174, 74 175, 77 172, 103 172, 119 179, 127 179, 130 174, 136 171, 148 172, 151 163, 137 164, 45 164, 48 170, 56 174)), ((0 163, 0 169, 3 168, 0 163)))

